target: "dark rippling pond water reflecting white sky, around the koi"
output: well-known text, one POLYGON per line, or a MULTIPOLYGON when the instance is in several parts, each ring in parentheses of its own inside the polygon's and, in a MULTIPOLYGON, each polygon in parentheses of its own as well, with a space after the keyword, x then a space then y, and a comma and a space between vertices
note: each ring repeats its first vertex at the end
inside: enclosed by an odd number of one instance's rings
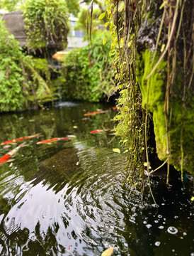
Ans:
MULTIPOLYGON (((118 140, 112 132, 90 134, 112 129, 115 114, 108 105, 62 102, 0 115, 1 142, 42 134, 0 166, 0 255, 98 256, 113 245, 113 255, 194 255, 193 184, 168 190, 153 180, 159 208, 147 186, 144 201, 123 188, 118 140), (98 109, 108 112, 84 117, 98 109), (36 144, 72 134, 69 142, 36 144)), ((1 146, 0 156, 16 146, 1 146)))

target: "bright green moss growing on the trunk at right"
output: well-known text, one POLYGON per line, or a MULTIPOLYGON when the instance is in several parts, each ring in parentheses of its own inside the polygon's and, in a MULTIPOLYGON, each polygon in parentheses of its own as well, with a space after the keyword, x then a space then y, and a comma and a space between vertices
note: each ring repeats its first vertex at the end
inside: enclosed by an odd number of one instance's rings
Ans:
MULTIPOLYGON (((156 55, 152 61, 151 50, 145 50, 137 60, 137 80, 142 92, 142 107, 153 113, 154 134, 156 139, 156 151, 159 159, 166 160, 166 125, 164 114, 164 102, 166 91, 166 66, 167 62, 161 60, 154 74, 147 80, 154 64, 159 59, 156 55)), ((188 92, 186 106, 183 106, 183 85, 180 77, 176 78, 176 96, 170 96, 171 122, 169 123, 170 137, 170 163, 180 171, 194 173, 193 163, 193 135, 194 113, 192 111, 193 100, 188 92)))

